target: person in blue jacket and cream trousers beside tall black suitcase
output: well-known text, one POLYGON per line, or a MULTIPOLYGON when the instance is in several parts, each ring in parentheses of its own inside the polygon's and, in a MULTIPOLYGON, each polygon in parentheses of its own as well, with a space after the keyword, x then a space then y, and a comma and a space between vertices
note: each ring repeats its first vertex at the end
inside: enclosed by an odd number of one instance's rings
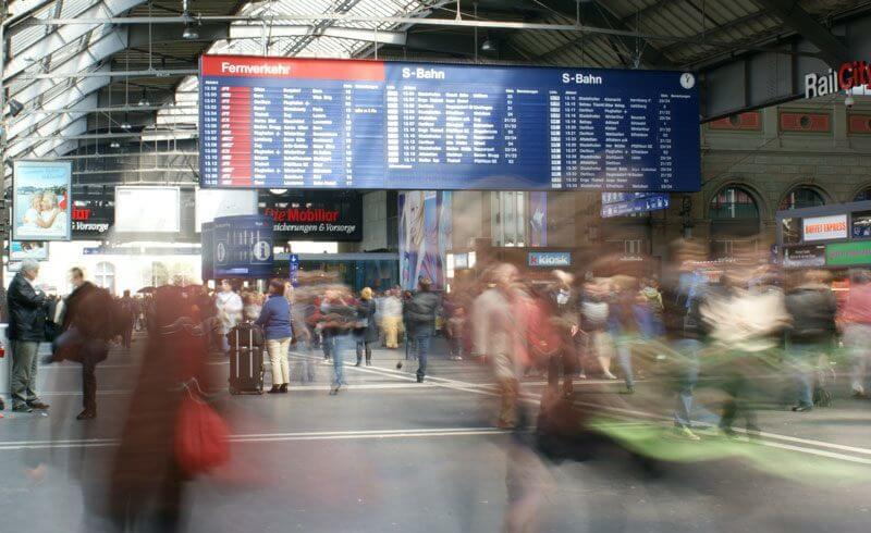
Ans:
POLYGON ((291 349, 293 329, 291 327, 291 303, 284 297, 284 283, 272 280, 269 283, 269 299, 263 305, 255 324, 266 333, 266 349, 272 363, 272 388, 269 394, 286 393, 291 383, 291 367, 287 352, 291 349))

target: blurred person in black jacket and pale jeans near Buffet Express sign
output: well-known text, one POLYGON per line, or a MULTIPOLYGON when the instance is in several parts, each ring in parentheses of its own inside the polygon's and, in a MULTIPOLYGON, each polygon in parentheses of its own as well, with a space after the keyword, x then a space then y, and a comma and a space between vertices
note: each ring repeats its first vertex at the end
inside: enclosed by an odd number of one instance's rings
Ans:
POLYGON ((793 410, 807 412, 813 408, 814 367, 834 343, 837 301, 826 284, 826 272, 805 272, 801 277, 801 283, 786 295, 786 310, 793 319, 786 346, 799 388, 793 410))

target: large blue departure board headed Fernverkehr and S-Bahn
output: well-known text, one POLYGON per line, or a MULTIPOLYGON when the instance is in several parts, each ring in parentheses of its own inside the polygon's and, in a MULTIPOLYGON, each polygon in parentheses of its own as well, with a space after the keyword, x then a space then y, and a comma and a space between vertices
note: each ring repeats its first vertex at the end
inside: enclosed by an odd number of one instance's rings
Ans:
POLYGON ((200 185, 694 191, 691 73, 204 55, 200 185))

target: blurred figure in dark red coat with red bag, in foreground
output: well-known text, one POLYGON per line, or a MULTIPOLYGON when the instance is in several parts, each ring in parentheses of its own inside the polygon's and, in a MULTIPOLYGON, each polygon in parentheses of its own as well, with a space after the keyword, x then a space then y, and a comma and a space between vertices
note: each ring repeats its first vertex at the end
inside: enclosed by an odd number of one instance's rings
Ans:
POLYGON ((180 287, 155 295, 155 327, 110 478, 120 531, 182 531, 185 482, 228 459, 228 432, 205 404, 207 337, 180 287))

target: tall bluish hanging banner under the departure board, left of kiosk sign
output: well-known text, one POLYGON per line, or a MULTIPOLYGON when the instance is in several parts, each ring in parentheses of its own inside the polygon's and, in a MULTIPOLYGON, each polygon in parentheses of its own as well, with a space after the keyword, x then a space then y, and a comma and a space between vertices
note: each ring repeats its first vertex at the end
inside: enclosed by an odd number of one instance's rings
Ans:
POLYGON ((447 240, 453 235, 450 227, 440 230, 440 223, 445 219, 450 221, 451 215, 451 200, 445 204, 443 195, 434 190, 398 195, 400 277, 406 289, 417 288, 418 282, 425 277, 432 281, 433 288, 444 288, 444 253, 449 245, 440 240, 447 240))

